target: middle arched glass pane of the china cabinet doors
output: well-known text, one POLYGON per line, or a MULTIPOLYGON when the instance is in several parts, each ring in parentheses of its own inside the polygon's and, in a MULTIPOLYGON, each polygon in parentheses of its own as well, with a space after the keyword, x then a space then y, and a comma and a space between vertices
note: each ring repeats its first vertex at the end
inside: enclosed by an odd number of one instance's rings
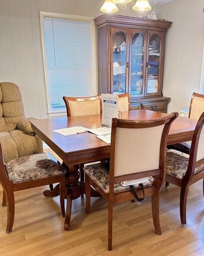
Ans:
POLYGON ((146 33, 145 31, 131 30, 129 89, 131 96, 144 96, 146 33))

